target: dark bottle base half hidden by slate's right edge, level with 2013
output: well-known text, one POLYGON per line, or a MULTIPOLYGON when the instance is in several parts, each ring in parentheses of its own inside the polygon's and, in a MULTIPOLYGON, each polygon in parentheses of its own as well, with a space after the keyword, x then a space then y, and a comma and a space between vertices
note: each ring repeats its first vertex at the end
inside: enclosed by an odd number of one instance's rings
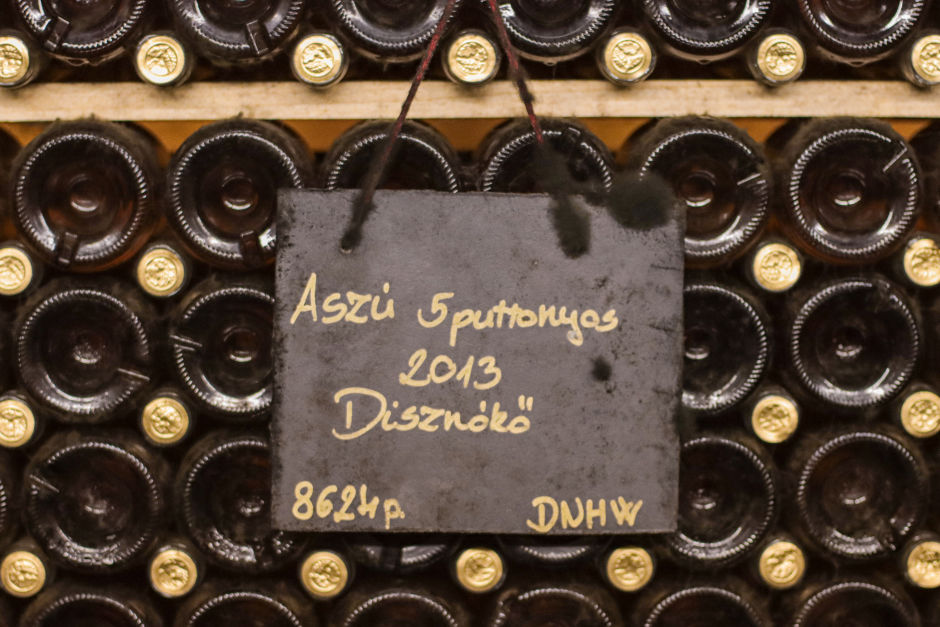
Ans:
POLYGON ((684 300, 682 406, 706 415, 731 410, 767 372, 769 317, 748 292, 706 276, 688 277, 684 300))

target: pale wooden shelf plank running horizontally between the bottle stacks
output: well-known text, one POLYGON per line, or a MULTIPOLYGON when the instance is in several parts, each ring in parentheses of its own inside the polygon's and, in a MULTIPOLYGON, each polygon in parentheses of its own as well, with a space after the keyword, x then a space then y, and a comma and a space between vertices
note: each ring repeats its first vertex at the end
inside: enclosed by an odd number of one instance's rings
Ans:
MULTIPOLYGON (((544 116, 645 118, 686 114, 720 117, 858 115, 938 117, 940 92, 898 81, 800 81, 770 90, 754 81, 652 80, 629 89, 606 81, 532 81, 544 116)), ((43 122, 97 115, 123 120, 208 120, 235 115, 282 120, 358 120, 398 114, 404 82, 346 82, 328 91, 299 83, 193 83, 160 89, 142 83, 46 83, 0 91, 0 122, 43 122)), ((422 86, 412 117, 506 118, 521 115, 512 84, 466 89, 422 86)))

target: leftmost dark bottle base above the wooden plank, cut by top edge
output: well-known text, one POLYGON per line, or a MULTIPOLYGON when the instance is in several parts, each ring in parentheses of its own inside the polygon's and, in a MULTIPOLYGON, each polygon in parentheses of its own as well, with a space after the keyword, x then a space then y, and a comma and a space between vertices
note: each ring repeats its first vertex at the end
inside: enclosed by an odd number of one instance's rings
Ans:
POLYGON ((123 55, 157 9, 154 0, 15 0, 10 4, 43 49, 72 65, 97 65, 123 55))

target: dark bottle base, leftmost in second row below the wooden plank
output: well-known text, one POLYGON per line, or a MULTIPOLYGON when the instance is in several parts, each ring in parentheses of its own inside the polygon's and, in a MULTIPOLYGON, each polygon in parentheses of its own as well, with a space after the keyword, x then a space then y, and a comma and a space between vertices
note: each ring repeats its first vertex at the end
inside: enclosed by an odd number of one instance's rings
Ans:
POLYGON ((143 295, 117 280, 53 280, 14 326, 20 385, 58 420, 112 420, 154 378, 155 319, 143 295))

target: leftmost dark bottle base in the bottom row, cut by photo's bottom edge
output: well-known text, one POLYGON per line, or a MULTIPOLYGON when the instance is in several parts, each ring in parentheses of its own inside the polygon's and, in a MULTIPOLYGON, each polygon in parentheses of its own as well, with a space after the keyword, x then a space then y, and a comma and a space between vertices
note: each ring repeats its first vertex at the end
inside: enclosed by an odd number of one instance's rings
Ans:
POLYGON ((20 627, 163 627, 150 599, 122 584, 56 582, 23 611, 20 627))

